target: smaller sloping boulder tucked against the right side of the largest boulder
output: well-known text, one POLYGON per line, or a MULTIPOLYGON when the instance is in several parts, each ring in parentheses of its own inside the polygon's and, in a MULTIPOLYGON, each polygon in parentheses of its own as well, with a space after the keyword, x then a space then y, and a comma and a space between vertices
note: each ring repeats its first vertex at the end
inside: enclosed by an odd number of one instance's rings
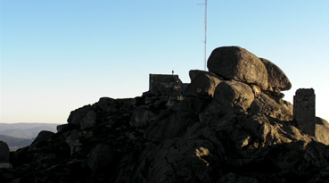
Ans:
POLYGON ((268 81, 268 87, 267 91, 271 92, 279 92, 277 89, 284 91, 289 90, 292 88, 292 83, 288 79, 288 77, 284 74, 284 71, 282 71, 276 64, 273 62, 268 61, 264 58, 259 58, 261 62, 264 63, 265 67, 267 68, 267 81, 268 81))

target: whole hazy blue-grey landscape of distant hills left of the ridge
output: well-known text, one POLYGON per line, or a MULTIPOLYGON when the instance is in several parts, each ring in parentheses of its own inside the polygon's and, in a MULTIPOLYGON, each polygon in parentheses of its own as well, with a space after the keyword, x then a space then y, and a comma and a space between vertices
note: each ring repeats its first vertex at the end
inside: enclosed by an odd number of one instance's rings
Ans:
POLYGON ((56 132, 58 125, 53 123, 0 123, 0 141, 4 141, 11 151, 15 151, 29 146, 42 130, 56 132))

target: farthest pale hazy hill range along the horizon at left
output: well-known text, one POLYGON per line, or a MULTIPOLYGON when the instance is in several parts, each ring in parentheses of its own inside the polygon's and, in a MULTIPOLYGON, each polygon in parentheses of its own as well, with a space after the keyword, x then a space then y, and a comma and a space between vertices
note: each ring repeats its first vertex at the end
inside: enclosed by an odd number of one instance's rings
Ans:
POLYGON ((42 130, 56 132, 56 127, 60 124, 54 123, 0 123, 0 135, 19 137, 19 138, 34 138, 42 130))

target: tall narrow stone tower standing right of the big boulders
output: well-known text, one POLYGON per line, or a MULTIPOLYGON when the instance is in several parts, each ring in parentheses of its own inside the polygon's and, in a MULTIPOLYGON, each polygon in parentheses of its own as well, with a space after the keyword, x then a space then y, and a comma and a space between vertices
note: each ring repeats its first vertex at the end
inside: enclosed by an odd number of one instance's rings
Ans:
POLYGON ((313 88, 300 88, 293 96, 293 119, 301 131, 316 136, 316 95, 313 88))

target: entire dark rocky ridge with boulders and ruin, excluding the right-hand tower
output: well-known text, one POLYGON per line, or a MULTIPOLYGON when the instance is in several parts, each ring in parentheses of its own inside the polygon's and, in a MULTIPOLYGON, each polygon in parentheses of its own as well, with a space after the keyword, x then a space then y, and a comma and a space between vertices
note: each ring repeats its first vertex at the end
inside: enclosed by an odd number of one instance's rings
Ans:
MULTIPOLYGON (((327 121, 300 129, 276 64, 238 46, 215 49, 209 71, 150 75, 150 91, 102 97, 10 153, 7 182, 327 182, 327 121)), ((1 157, 0 157, 1 158, 1 157)))

